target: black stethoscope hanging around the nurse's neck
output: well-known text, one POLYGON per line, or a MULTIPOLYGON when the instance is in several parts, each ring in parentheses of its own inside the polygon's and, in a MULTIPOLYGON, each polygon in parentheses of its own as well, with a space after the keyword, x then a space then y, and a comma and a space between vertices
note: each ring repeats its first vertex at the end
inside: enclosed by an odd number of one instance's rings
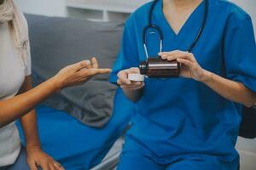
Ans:
MULTIPOLYGON (((144 47, 147 59, 148 59, 147 32, 149 29, 153 29, 158 32, 158 36, 160 39, 160 53, 162 52, 162 49, 163 49, 163 40, 164 40, 163 32, 161 31, 159 26, 156 26, 152 23, 154 7, 155 7, 155 4, 158 3, 158 1, 159 0, 155 0, 154 3, 151 5, 151 8, 149 10, 149 16, 148 16, 148 26, 146 26, 143 29, 143 47, 144 47)), ((208 15, 208 0, 205 0, 205 13, 204 13, 204 18, 203 18, 202 24, 201 24, 201 29, 198 31, 194 42, 192 42, 191 45, 189 46, 189 48, 187 50, 189 53, 192 51, 193 48, 195 48, 195 44, 198 42, 199 38, 201 37, 201 33, 204 30, 204 27, 207 22, 207 15, 208 15)), ((157 33, 154 31, 151 31, 149 34, 157 34, 157 33)))

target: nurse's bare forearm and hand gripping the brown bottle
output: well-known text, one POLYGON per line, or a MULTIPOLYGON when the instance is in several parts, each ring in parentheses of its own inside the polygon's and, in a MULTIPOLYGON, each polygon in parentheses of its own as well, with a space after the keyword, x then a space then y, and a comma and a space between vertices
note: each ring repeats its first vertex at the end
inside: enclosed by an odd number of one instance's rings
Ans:
POLYGON ((256 94, 252 90, 244 86, 241 82, 220 77, 213 72, 201 68, 194 54, 176 50, 160 53, 159 55, 162 59, 168 59, 170 61, 177 59, 177 62, 182 64, 181 77, 193 78, 198 82, 203 82, 225 99, 230 99, 247 107, 253 106, 256 102, 256 94))

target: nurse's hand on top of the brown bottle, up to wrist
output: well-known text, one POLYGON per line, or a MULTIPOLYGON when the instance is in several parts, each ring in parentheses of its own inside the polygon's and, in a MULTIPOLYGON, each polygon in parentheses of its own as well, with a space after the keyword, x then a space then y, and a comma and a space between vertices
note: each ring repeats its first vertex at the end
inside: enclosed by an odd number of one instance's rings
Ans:
POLYGON ((181 77, 193 78, 199 82, 210 80, 212 73, 201 68, 201 65, 195 59, 194 54, 175 50, 172 52, 163 52, 159 54, 162 59, 176 60, 181 63, 181 77))

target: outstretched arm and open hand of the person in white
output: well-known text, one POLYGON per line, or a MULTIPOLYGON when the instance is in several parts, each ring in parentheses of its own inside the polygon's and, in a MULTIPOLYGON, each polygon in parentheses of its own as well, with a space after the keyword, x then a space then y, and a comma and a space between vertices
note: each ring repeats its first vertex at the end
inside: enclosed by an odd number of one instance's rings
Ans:
POLYGON ((55 77, 41 83, 24 94, 19 94, 12 99, 0 101, 0 127, 14 122, 21 116, 33 110, 35 105, 60 91, 62 88, 80 85, 96 74, 109 73, 110 69, 97 69, 96 59, 91 62, 82 61, 74 65, 68 65, 55 77))

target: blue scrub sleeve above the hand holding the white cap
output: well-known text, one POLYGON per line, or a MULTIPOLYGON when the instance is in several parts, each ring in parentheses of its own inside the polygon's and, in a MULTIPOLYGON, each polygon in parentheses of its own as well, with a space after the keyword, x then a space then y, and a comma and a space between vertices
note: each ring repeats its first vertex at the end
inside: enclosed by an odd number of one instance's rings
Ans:
POLYGON ((113 65, 113 71, 110 74, 109 82, 117 82, 117 74, 119 71, 137 67, 138 65, 137 37, 134 31, 134 26, 132 26, 131 18, 129 18, 125 23, 121 49, 113 65))

